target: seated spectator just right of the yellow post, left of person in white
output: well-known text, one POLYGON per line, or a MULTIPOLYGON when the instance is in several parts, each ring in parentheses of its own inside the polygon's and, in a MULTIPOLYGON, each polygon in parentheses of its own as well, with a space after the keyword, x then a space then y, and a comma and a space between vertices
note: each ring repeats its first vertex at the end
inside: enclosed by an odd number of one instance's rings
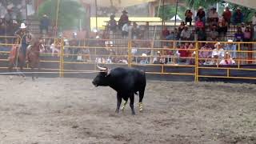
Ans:
MULTIPOLYGON (((212 57, 212 49, 208 43, 199 50, 199 58, 211 58, 212 57)), ((210 61, 207 59, 199 60, 200 64, 207 65, 210 61)))

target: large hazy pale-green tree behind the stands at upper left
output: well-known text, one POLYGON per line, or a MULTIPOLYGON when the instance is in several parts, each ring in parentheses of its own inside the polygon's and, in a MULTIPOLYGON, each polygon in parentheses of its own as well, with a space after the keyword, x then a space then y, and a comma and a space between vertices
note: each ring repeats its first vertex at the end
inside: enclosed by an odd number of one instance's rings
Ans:
MULTIPOLYGON (((51 22, 56 22, 58 0, 47 0, 39 7, 38 14, 50 17, 51 22)), ((84 21, 85 10, 78 1, 60 0, 58 11, 58 27, 62 30, 75 29, 79 26, 79 19, 84 21)))

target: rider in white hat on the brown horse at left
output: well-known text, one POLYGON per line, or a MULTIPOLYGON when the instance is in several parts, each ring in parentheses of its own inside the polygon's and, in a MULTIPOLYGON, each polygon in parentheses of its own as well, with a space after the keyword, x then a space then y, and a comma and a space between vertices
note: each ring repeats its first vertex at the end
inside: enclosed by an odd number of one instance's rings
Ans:
POLYGON ((18 36, 19 44, 22 44, 21 51, 27 61, 26 48, 30 44, 30 39, 31 39, 30 31, 26 29, 25 23, 22 23, 20 26, 20 29, 17 30, 15 34, 18 36))

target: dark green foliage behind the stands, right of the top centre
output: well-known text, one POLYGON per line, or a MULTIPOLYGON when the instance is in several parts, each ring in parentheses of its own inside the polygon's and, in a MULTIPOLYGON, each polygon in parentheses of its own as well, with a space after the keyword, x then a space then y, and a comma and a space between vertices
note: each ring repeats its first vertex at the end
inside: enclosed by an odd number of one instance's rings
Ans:
MULTIPOLYGON (((156 11, 158 11, 158 7, 156 8, 156 11)), ((178 6, 177 14, 182 20, 185 20, 185 12, 186 7, 185 6, 178 6)), ((160 6, 159 10, 159 17, 163 18, 165 21, 170 20, 170 18, 173 18, 176 14, 176 6, 160 6), (164 9, 164 11, 162 11, 164 9), (163 13, 162 13, 163 12, 163 13)), ((155 14, 157 16, 157 14, 155 14)))

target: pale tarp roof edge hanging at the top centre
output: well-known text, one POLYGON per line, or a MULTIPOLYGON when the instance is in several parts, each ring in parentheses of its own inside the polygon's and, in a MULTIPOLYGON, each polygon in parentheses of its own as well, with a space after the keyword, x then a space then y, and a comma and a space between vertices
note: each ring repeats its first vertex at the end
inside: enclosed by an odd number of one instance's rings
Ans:
MULTIPOLYGON (((95 0, 83 0, 85 3, 95 6, 95 0)), ((97 0, 98 6, 114 6, 114 7, 127 7, 135 6, 142 3, 154 2, 155 0, 97 0)))

